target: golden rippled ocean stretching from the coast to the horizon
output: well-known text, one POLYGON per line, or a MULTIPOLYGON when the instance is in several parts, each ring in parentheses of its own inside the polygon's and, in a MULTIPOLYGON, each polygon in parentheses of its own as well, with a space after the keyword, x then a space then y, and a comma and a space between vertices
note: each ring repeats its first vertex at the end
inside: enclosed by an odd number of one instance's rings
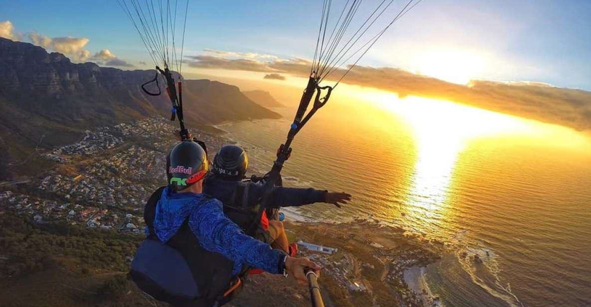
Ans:
MULTIPOLYGON (((277 111, 285 119, 220 126, 253 172, 270 169, 287 135, 294 108, 277 111)), ((444 306, 591 306, 589 134, 433 99, 345 93, 292 148, 284 185, 353 195, 343 209, 299 213, 370 216, 446 243, 424 269, 444 306)))

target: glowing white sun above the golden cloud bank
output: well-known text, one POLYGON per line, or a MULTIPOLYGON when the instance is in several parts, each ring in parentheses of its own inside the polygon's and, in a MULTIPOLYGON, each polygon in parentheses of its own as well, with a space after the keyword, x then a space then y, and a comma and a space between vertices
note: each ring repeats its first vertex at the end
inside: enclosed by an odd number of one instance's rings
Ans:
POLYGON ((415 55, 411 70, 424 76, 466 85, 482 73, 485 63, 485 58, 472 51, 439 48, 415 55))

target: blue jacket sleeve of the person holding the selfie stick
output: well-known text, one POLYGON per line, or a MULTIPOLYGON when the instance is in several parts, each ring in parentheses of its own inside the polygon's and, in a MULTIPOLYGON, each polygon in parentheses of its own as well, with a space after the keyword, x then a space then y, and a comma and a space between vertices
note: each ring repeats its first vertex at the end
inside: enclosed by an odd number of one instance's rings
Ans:
POLYGON ((193 213, 189 226, 204 249, 223 254, 234 263, 246 263, 269 273, 283 273, 285 253, 244 234, 223 214, 219 201, 212 200, 193 213))

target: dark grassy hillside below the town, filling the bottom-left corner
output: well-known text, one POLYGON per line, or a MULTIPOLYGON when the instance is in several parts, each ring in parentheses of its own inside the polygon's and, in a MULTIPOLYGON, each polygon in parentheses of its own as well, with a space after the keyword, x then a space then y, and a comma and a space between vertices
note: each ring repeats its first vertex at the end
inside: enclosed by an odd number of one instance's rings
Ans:
POLYGON ((125 276, 141 239, 0 211, 0 305, 145 305, 125 276))

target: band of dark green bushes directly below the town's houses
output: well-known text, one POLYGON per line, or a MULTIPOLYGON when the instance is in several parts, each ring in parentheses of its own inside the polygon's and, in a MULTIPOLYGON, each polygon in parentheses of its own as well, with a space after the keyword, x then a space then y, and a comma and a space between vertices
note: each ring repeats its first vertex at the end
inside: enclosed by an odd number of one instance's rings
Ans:
POLYGON ((19 276, 57 264, 78 272, 126 272, 143 238, 67 223, 34 224, 11 211, 0 214, 0 276, 19 276))

